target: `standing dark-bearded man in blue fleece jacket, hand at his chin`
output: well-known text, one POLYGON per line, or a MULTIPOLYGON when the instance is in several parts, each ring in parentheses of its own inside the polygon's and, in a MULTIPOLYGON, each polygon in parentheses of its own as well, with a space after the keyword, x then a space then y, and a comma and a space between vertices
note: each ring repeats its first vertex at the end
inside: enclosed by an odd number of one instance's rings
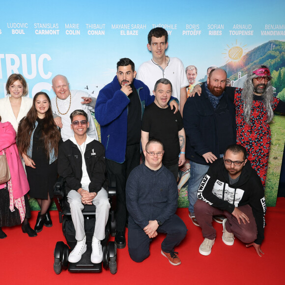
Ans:
MULTIPOLYGON (((116 76, 100 90, 95 105, 95 117, 100 124, 101 140, 106 150, 107 170, 109 175, 116 177, 115 243, 120 249, 126 246, 126 181, 130 172, 140 164, 144 106, 154 101, 148 87, 135 79, 136 75, 134 62, 121 58, 117 62, 116 76)), ((171 104, 178 109, 174 100, 171 104)))

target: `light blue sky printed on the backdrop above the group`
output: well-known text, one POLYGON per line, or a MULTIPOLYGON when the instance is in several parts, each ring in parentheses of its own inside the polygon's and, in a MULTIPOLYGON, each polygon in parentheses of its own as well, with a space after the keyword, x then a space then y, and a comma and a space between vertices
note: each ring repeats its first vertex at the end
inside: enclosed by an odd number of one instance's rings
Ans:
POLYGON ((285 32, 284 11, 285 2, 281 0, 205 0, 202 4, 198 1, 168 0, 50 0, 44 3, 26 1, 25 5, 19 0, 14 0, 12 5, 5 1, 1 4, 0 17, 0 98, 4 96, 4 88, 1 86, 6 82, 7 70, 9 72, 10 65, 15 64, 14 59, 9 63, 6 55, 19 58, 17 70, 20 73, 23 73, 24 68, 31 74, 31 55, 35 54, 36 75, 27 79, 30 93, 31 90, 34 93, 37 88, 33 87, 42 82, 45 85, 39 84, 38 88, 44 86, 53 97, 54 93, 50 91, 51 79, 60 73, 68 77, 71 88, 84 89, 88 85, 90 92, 94 90, 94 94, 97 94, 113 79, 119 58, 130 57, 135 62, 136 69, 143 61, 151 58, 146 44, 148 31, 153 25, 169 25, 166 28, 171 32, 167 54, 179 57, 185 67, 189 64, 196 65, 198 78, 202 78, 208 66, 221 66, 227 62, 227 51, 232 45, 238 45, 247 52, 272 39, 285 40, 284 35, 261 35, 264 30, 276 31, 276 28, 266 29, 269 27, 266 25, 278 25, 281 27, 278 30, 285 32), (22 25, 14 29, 23 29, 25 34, 12 34, 12 26, 15 24, 22 25), (57 24, 58 28, 53 29, 59 30, 58 34, 36 34, 36 30, 41 29, 37 24, 57 24), (79 24, 79 29, 71 30, 80 30, 80 35, 67 35, 66 30, 69 29, 65 28, 66 24, 79 24), (86 24, 101 25, 105 34, 88 35, 88 30, 92 29, 87 28, 86 24), (130 29, 115 28, 128 24, 130 29), (142 29, 132 29, 131 25, 140 25, 142 29), (235 29, 234 25, 245 25, 245 28, 235 29), (126 34, 135 30, 138 30, 138 35, 126 34), (253 35, 230 34, 230 31, 239 30, 253 35), (187 31, 198 34, 187 35, 187 31), (209 35, 209 31, 222 32, 222 35, 209 35), (24 60, 27 57, 27 66, 24 66, 22 55, 24 60))

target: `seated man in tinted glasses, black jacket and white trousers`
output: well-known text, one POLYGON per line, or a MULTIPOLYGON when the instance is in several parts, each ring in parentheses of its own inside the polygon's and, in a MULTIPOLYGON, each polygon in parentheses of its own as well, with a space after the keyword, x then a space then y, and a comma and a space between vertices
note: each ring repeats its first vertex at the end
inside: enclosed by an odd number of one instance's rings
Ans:
POLYGON ((84 204, 96 206, 96 223, 92 238, 91 262, 103 259, 101 240, 109 217, 110 203, 106 191, 105 149, 103 144, 89 137, 87 114, 75 110, 70 114, 74 135, 59 146, 58 174, 65 179, 65 191, 70 204, 72 222, 77 244, 68 256, 68 261, 78 262, 86 251, 86 235, 82 210, 84 204), (83 159, 84 158, 84 159, 83 159))

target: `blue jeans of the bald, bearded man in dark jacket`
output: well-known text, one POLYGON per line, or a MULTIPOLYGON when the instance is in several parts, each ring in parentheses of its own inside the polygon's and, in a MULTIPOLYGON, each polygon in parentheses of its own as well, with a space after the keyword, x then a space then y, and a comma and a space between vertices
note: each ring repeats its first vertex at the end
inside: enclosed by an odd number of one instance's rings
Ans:
POLYGON ((203 165, 190 160, 190 178, 188 180, 188 200, 189 212, 194 213, 194 204, 197 201, 197 192, 200 182, 209 169, 208 165, 203 165))

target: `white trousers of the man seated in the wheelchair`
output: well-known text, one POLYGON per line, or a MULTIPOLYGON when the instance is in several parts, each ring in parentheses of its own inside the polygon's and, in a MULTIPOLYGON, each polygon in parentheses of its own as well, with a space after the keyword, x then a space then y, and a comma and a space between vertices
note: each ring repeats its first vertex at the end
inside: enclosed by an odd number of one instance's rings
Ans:
MULTIPOLYGON (((85 236, 84 217, 82 213, 84 205, 81 198, 81 195, 75 190, 71 190, 67 195, 67 200, 70 204, 71 218, 75 228, 76 240, 83 240, 85 236)), ((110 209, 107 191, 102 188, 92 200, 92 203, 96 206, 94 236, 98 240, 102 240, 105 238, 105 227, 108 221, 110 209)))

